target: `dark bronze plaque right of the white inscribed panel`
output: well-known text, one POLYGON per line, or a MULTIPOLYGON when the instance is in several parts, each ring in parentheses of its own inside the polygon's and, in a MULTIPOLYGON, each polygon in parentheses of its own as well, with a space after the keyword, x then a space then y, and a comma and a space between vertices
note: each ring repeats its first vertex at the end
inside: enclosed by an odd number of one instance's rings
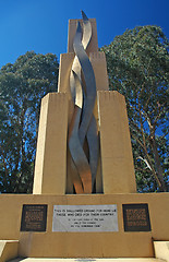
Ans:
POLYGON ((123 204, 124 231, 150 231, 147 204, 123 204))

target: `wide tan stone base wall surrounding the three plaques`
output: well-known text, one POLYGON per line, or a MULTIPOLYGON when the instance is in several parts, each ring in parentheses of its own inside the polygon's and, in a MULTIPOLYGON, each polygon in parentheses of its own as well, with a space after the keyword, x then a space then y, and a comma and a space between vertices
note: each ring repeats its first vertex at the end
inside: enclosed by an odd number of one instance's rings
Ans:
POLYGON ((154 258, 153 239, 169 240, 169 194, 0 195, 0 239, 19 240, 28 258, 154 258), (122 204, 147 203, 150 231, 124 231, 122 204), (20 231, 23 204, 47 204, 45 233, 20 231), (53 233, 53 205, 117 204, 119 231, 53 233))

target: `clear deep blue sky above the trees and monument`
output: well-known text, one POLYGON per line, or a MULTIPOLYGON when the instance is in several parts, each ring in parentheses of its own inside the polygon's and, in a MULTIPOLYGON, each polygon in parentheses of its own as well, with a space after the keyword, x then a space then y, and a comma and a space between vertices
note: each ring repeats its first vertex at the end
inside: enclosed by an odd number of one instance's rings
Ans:
POLYGON ((99 47, 136 25, 159 25, 169 37, 169 0, 0 0, 0 68, 31 50, 59 59, 81 10, 96 17, 99 47))

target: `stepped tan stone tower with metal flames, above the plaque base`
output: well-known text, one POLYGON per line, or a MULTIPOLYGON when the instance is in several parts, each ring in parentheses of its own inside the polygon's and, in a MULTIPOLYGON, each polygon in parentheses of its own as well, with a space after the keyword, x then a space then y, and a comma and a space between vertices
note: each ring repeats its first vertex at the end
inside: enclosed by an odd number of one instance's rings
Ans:
POLYGON ((96 20, 83 13, 69 22, 58 93, 41 102, 34 194, 136 192, 125 99, 108 85, 96 20))

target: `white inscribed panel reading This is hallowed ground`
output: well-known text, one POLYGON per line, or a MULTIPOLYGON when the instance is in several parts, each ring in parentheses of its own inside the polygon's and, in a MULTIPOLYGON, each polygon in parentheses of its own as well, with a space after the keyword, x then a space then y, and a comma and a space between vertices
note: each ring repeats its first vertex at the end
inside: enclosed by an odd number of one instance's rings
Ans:
POLYGON ((52 231, 118 231, 117 205, 55 205, 52 231))

